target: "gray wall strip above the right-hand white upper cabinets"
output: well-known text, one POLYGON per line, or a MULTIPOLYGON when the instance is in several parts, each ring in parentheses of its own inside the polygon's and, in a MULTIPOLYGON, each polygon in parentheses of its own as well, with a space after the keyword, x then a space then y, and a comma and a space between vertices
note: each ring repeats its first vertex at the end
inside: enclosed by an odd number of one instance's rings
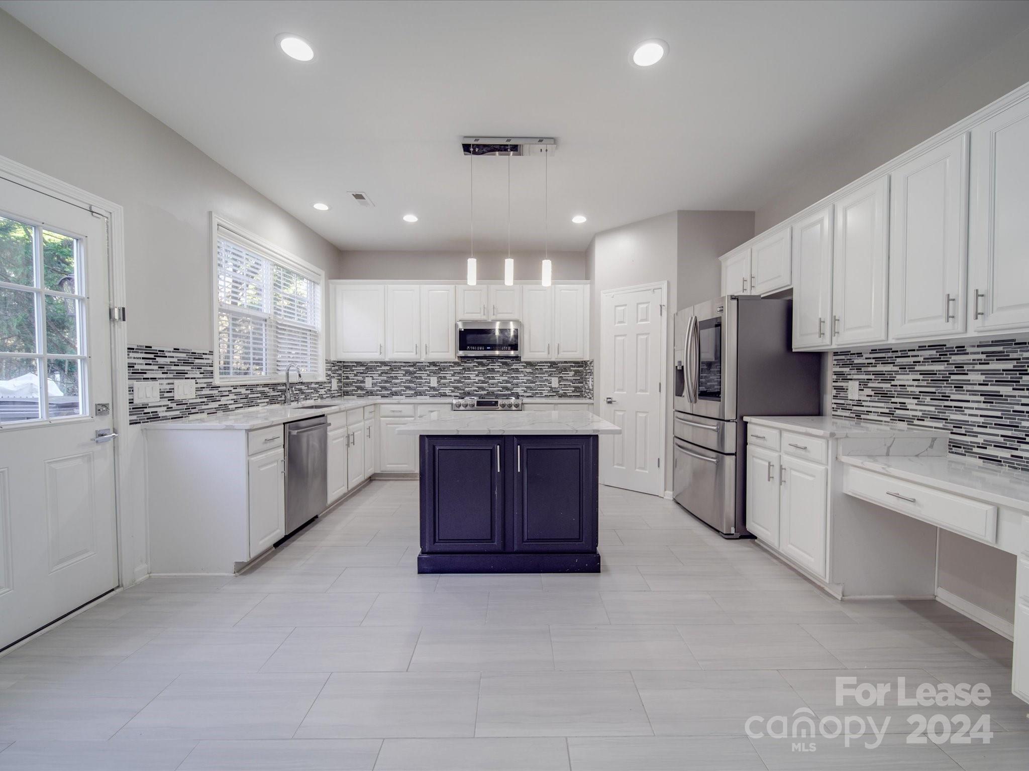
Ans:
POLYGON ((861 131, 841 136, 828 150, 784 175, 781 192, 756 211, 755 233, 910 150, 952 123, 1029 82, 1029 30, 970 67, 927 84, 919 99, 877 116, 861 131))

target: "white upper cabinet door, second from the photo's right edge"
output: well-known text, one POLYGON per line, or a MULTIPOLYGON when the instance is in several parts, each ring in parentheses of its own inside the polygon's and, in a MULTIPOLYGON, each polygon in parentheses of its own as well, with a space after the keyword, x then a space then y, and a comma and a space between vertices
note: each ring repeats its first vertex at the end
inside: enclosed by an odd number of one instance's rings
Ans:
POLYGON ((962 134, 890 173, 891 337, 965 330, 967 170, 962 134))

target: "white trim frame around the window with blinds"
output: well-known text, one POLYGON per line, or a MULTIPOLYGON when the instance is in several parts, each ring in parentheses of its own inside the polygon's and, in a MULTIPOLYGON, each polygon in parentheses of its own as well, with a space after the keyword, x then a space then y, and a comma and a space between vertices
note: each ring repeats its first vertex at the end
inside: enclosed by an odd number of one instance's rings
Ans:
MULTIPOLYGON (((326 282, 325 282, 325 271, 322 270, 317 265, 314 265, 307 260, 297 257, 290 252, 272 244, 270 241, 257 235, 256 233, 246 229, 245 227, 232 222, 224 217, 221 217, 215 212, 211 212, 211 262, 210 262, 210 274, 209 274, 209 285, 211 287, 211 352, 212 352, 212 368, 214 370, 214 384, 215 386, 250 386, 259 384, 267 382, 285 382, 285 374, 272 373, 268 375, 251 376, 251 375, 235 375, 226 376, 220 373, 220 367, 218 366, 218 314, 220 313, 221 306, 218 302, 218 234, 219 230, 225 231, 226 234, 235 237, 239 243, 245 246, 247 249, 252 250, 256 254, 271 260, 273 263, 285 267, 289 270, 293 270, 306 279, 313 281, 318 285, 318 316, 319 316, 319 330, 318 330, 318 371, 311 375, 305 375, 304 382, 324 382, 326 379, 325 375, 325 355, 326 355, 326 310, 327 304, 325 301, 326 293, 326 282)), ((271 323, 274 322, 272 316, 267 314, 261 314, 259 311, 248 311, 246 308, 238 308, 240 315, 253 315, 258 318, 267 318, 271 323)), ((234 310, 234 313, 236 313, 234 310)), ((299 326, 299 325, 297 325, 299 326)), ((273 369, 275 367, 275 362, 269 362, 269 368, 273 369)))

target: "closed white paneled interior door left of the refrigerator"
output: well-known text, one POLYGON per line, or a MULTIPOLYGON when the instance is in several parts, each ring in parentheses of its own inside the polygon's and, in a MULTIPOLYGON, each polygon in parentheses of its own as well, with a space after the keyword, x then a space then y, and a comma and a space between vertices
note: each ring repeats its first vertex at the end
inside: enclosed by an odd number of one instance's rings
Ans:
POLYGON ((600 324, 601 414, 622 428, 600 438, 601 481, 654 495, 665 490, 663 303, 660 288, 605 292, 600 324))

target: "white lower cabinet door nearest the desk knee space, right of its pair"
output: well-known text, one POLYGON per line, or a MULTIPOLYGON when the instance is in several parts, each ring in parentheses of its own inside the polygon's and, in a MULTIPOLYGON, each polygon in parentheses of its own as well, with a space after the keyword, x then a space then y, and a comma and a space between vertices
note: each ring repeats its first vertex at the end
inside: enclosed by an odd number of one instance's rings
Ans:
POLYGON ((779 549, 816 576, 825 577, 828 469, 780 455, 779 549))

